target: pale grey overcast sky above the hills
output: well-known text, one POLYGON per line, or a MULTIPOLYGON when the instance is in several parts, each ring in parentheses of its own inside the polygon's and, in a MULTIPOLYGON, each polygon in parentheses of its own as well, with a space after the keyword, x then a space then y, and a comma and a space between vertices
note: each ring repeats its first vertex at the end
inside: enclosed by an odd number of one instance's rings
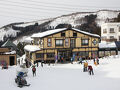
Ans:
POLYGON ((0 0, 0 27, 100 9, 120 10, 120 0, 0 0))

